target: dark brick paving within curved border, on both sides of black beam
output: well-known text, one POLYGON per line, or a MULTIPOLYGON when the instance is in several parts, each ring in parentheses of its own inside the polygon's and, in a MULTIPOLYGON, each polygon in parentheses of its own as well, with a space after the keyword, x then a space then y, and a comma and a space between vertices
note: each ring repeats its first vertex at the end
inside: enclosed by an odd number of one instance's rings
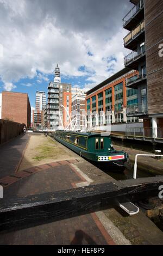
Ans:
MULTIPOLYGON (((87 180, 78 168, 74 168, 74 163, 78 160, 53 162, 17 172, 15 178, 12 177, 12 184, 4 187, 3 200, 84 185, 87 180)), ((22 230, 0 232, 0 245, 115 245, 115 242, 97 215, 92 213, 22 230)))

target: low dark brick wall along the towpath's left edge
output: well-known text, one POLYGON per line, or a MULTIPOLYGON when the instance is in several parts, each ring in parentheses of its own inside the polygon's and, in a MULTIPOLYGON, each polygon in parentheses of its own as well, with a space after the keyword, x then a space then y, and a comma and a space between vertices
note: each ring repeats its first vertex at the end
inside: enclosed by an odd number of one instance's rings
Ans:
POLYGON ((0 144, 21 135, 24 124, 15 123, 9 120, 0 120, 0 144))

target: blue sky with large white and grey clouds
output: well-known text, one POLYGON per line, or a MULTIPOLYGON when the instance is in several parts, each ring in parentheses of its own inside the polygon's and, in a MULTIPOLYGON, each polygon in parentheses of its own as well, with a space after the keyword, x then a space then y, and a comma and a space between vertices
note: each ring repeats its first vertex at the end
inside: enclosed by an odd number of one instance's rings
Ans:
POLYGON ((90 88, 124 68, 122 19, 129 0, 0 0, 0 93, 47 92, 61 82, 90 88))

